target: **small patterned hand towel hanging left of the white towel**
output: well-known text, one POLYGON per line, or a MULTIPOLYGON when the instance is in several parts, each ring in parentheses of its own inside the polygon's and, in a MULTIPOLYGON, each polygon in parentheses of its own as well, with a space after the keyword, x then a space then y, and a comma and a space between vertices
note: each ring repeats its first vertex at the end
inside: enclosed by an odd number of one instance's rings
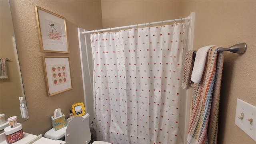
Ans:
POLYGON ((193 69, 194 52, 195 50, 190 50, 186 52, 186 56, 185 56, 181 87, 186 90, 188 90, 189 88, 192 88, 190 81, 191 81, 191 74, 193 69))

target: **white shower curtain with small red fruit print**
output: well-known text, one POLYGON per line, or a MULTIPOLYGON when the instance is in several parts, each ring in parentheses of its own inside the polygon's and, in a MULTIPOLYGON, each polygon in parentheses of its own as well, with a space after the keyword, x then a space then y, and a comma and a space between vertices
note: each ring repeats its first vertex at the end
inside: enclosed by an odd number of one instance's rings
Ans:
POLYGON ((94 129, 113 144, 176 144, 182 24, 91 34, 94 129))

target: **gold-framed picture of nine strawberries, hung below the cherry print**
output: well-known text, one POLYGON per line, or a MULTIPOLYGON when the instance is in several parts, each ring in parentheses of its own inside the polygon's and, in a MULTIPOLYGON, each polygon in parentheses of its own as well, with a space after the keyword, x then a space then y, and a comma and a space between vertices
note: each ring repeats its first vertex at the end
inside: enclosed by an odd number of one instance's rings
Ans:
POLYGON ((69 56, 42 56, 48 96, 73 89, 69 56))

